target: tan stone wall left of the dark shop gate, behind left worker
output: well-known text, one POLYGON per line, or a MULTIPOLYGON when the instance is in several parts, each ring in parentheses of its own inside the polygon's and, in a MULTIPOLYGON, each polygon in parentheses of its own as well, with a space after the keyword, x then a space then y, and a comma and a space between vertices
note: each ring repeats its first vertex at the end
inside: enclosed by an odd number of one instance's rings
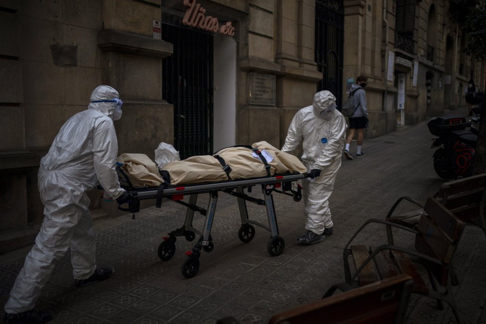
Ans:
MULTIPOLYGON (((119 92, 120 152, 154 155, 172 142, 172 105, 161 62, 172 45, 153 39, 160 0, 0 1, 0 253, 33 242, 43 219, 37 168, 63 123, 86 109, 95 87, 119 92)), ((106 215, 101 192, 93 214, 106 215)))

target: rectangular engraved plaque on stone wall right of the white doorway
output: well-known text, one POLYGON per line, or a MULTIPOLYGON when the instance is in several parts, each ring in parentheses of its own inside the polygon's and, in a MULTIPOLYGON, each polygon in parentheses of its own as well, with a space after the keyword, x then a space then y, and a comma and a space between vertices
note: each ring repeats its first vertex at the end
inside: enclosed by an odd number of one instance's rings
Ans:
POLYGON ((249 73, 250 105, 275 106, 275 75, 249 73))

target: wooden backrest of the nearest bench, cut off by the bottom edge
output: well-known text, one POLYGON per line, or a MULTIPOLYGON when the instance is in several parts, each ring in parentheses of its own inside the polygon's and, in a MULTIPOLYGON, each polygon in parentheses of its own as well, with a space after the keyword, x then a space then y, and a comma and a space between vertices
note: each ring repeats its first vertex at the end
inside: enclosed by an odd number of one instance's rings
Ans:
MULTIPOLYGON (((274 315, 269 324, 401 324, 405 320, 413 281, 399 275, 364 287, 352 289, 334 285, 323 299, 274 315), (336 289, 344 292, 334 294, 336 289)), ((239 324, 224 318, 218 324, 239 324)))

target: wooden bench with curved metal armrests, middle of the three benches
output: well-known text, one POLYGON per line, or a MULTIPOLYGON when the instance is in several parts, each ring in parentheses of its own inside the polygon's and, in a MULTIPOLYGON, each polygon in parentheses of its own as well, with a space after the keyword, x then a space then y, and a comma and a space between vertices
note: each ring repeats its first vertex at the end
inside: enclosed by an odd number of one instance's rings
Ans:
POLYGON ((416 228, 381 219, 367 220, 351 237, 344 249, 346 282, 363 286, 405 273, 414 281, 412 293, 437 299, 440 308, 442 308, 441 301, 448 303, 452 307, 457 322, 461 323, 451 293, 449 270, 465 224, 433 197, 429 197, 425 202, 424 211, 416 228), (415 234, 415 248, 409 249, 389 243, 378 247, 352 245, 361 230, 371 223, 380 223, 415 234), (350 257, 356 269, 354 274, 350 267, 350 257), (425 278, 419 268, 427 274, 425 278), (438 286, 441 286, 443 292, 438 291, 438 286))

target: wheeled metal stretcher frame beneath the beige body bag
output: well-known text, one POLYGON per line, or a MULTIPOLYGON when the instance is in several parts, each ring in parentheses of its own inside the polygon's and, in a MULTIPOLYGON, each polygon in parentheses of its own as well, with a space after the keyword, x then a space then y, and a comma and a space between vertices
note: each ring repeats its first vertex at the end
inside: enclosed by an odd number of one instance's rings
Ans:
POLYGON ((219 192, 236 196, 238 199, 242 222, 240 230, 238 231, 239 239, 243 243, 248 243, 255 236, 255 228, 253 225, 264 228, 271 233, 270 240, 267 244, 267 251, 271 256, 278 256, 284 251, 285 242, 284 239, 279 236, 272 194, 286 194, 292 196, 295 201, 300 201, 302 198, 302 188, 298 184, 298 180, 304 179, 306 176, 305 174, 294 173, 186 186, 178 185, 140 188, 131 185, 129 178, 121 168, 117 168, 117 170, 120 175, 120 183, 122 187, 132 199, 128 208, 119 207, 120 209, 136 213, 140 209, 140 200, 144 199, 156 199, 156 206, 161 207, 163 198, 169 198, 187 207, 182 227, 173 230, 169 233, 169 236, 164 237, 157 251, 160 259, 165 261, 170 260, 176 252, 176 241, 178 236, 185 237, 187 241, 193 241, 196 235, 198 235, 199 239, 197 240, 197 243, 192 250, 186 252, 187 258, 182 264, 182 275, 186 278, 192 278, 197 274, 199 270, 201 249, 205 252, 211 252, 214 249, 214 243, 211 238, 211 227, 214 220, 219 192), (255 186, 261 187, 263 199, 258 199, 245 194, 245 191, 246 193, 250 193, 255 186), (199 194, 209 194, 206 209, 196 205, 199 194), (182 200, 185 195, 189 195, 188 202, 182 200), (248 218, 246 201, 265 206, 268 226, 248 218), (194 211, 205 216, 204 226, 201 230, 192 226, 194 211))

